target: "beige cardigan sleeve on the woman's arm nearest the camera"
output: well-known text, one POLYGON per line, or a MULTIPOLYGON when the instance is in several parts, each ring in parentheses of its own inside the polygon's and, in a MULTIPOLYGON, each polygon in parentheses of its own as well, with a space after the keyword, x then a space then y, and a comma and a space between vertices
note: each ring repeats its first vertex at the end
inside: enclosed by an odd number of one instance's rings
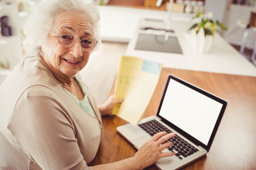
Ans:
POLYGON ((79 150, 68 108, 45 86, 32 86, 18 99, 9 129, 31 163, 43 170, 92 170, 79 150))

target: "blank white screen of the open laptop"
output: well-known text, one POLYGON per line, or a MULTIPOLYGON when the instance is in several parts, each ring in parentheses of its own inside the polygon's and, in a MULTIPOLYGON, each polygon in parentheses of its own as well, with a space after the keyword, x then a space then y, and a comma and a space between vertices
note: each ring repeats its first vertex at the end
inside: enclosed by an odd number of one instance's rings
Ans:
POLYGON ((222 104, 170 79, 159 115, 207 145, 222 104))

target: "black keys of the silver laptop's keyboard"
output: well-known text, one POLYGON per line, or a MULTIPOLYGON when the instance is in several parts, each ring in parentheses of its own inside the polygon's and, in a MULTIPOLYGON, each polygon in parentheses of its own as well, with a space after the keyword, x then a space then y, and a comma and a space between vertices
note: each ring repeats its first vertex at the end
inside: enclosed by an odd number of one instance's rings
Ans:
MULTIPOLYGON (((143 124, 139 124, 139 127, 141 127, 143 130, 145 130, 149 135, 153 136, 158 132, 165 131, 167 133, 171 133, 172 131, 168 128, 164 127, 162 124, 160 124, 156 120, 148 121, 143 124)), ((197 148, 186 142, 184 139, 179 137, 178 135, 175 135, 173 138, 168 139, 168 141, 173 142, 173 145, 168 147, 168 150, 175 153, 175 155, 179 159, 186 158, 193 153, 199 151, 197 148)), ((166 141, 166 142, 168 142, 166 141)))

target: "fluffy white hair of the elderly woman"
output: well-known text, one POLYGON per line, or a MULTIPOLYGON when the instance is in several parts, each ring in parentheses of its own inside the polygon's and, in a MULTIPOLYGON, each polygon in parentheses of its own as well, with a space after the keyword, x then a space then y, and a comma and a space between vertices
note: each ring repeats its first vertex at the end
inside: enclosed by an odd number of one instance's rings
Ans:
POLYGON ((48 31, 53 27, 53 21, 58 13, 63 11, 81 11, 88 15, 93 26, 93 37, 98 41, 93 51, 101 44, 100 15, 94 1, 85 0, 42 0, 33 6, 32 12, 24 26, 24 47, 27 53, 40 55, 41 46, 46 42, 48 31))

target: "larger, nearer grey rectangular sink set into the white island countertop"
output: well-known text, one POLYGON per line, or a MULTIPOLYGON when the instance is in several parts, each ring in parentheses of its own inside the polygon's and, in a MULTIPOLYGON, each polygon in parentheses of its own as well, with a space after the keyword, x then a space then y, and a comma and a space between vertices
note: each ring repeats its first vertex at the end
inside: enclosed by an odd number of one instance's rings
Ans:
POLYGON ((168 34, 151 35, 139 33, 135 49, 182 54, 177 38, 168 34))

